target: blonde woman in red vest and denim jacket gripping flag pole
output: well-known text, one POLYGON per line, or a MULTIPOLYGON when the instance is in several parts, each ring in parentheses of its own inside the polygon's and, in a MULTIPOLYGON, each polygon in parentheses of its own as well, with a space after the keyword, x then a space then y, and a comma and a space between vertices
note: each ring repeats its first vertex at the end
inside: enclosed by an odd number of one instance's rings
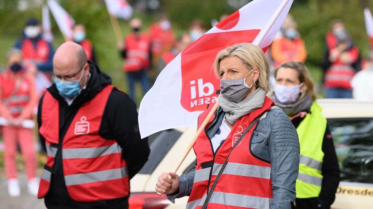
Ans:
MULTIPOLYGON (((291 208, 298 137, 289 118, 266 97, 269 65, 262 49, 230 46, 218 53, 214 66, 219 108, 193 147, 196 167, 180 177, 162 173, 156 190, 171 201, 189 195, 190 209, 291 208)), ((209 111, 200 115, 199 126, 209 111)))

